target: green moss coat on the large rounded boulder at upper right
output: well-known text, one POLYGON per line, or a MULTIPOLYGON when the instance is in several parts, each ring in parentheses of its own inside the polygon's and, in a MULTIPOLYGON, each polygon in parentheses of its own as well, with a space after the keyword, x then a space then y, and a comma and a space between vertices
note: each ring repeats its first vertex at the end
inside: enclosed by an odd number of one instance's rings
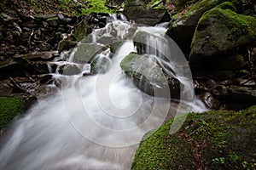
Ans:
POLYGON ((199 55, 229 53, 255 41, 256 19, 219 7, 223 6, 212 8, 201 16, 191 43, 190 61, 199 55))

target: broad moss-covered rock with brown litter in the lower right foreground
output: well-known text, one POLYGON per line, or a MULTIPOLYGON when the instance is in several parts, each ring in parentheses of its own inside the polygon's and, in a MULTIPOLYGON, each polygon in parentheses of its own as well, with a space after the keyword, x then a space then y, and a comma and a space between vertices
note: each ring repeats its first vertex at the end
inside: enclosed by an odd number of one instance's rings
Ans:
POLYGON ((255 169, 256 106, 238 112, 189 113, 174 134, 172 122, 141 142, 132 170, 255 169))

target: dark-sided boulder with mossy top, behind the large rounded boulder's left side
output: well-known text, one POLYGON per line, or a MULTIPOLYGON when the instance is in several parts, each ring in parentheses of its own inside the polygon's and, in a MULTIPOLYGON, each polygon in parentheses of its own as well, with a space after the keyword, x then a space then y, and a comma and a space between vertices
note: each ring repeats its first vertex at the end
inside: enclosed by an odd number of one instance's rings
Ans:
POLYGON ((241 1, 231 1, 224 3, 224 0, 203 0, 199 3, 192 5, 187 12, 184 14, 176 14, 172 16, 171 26, 169 27, 166 34, 177 42, 177 45, 183 50, 185 56, 189 56, 190 44, 195 32, 198 21, 200 20, 202 14, 207 10, 216 7, 218 4, 222 4, 220 8, 231 8, 236 10, 241 8, 241 1), (240 3, 237 3, 240 2, 240 3))

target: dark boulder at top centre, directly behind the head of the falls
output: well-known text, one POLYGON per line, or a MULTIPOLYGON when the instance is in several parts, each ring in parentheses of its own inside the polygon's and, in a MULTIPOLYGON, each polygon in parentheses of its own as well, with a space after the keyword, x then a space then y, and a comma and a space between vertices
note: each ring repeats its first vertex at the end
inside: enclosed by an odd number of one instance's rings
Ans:
POLYGON ((160 22, 170 21, 171 17, 165 9, 147 8, 140 0, 126 1, 124 14, 128 20, 134 20, 138 24, 154 26, 160 22))

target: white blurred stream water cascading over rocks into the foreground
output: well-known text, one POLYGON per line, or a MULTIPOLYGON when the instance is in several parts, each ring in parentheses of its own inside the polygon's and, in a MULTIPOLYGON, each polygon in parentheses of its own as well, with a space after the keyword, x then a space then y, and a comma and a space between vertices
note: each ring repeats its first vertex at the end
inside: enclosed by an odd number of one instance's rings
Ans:
MULTIPOLYGON (((113 19, 109 19, 112 28, 118 37, 124 38, 131 25, 113 19)), ((96 42, 99 32, 110 36, 110 25, 93 32, 92 42, 96 42)), ((138 29, 152 34, 166 31, 161 27, 138 29)), ((149 41, 160 48, 160 42, 149 41)), ((90 65, 73 63, 73 53, 67 61, 54 61, 59 66, 53 75, 61 80, 62 88, 13 123, 1 146, 0 169, 129 169, 138 142, 145 133, 159 127, 168 112, 205 111, 196 99, 183 101, 186 105, 181 106, 138 90, 119 67, 120 61, 132 51, 136 51, 133 42, 123 41, 108 62, 108 71, 95 76, 83 77, 91 71, 90 65), (59 68, 64 64, 77 65, 82 72, 60 75, 59 68)), ((108 58, 109 53, 108 49, 103 51, 102 58, 108 58)), ((183 72, 180 65, 158 59, 186 87, 181 93, 193 96, 191 82, 186 82, 186 77, 179 73, 183 72)))

